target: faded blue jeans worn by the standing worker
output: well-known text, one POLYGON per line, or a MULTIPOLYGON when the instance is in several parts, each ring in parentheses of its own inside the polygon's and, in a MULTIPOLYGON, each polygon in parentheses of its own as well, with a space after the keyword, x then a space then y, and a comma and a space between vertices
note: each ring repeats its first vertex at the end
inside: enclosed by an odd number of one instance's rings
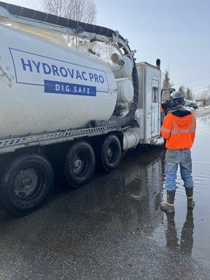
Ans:
POLYGON ((193 188, 192 159, 190 150, 167 150, 165 188, 176 190, 176 172, 180 165, 181 179, 185 188, 193 188))

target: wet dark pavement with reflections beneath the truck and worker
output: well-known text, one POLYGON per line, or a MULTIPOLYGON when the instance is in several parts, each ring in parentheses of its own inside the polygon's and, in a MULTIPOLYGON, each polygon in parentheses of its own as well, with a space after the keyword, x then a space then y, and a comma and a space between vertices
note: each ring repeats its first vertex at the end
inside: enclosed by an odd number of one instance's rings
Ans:
POLYGON ((0 212, 0 280, 210 279, 210 116, 197 118, 194 211, 180 176, 176 214, 160 211, 165 151, 134 149, 84 188, 57 183, 43 209, 0 212))

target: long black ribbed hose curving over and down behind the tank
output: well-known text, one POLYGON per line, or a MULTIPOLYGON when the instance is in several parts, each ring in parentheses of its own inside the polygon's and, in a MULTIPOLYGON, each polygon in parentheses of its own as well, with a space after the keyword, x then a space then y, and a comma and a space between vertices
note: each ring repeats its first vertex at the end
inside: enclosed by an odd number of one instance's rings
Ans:
MULTIPOLYGON (((113 31, 109 28, 106 28, 106 27, 101 27, 99 25, 90 25, 85 22, 77 22, 76 20, 62 18, 57 15, 50 15, 48 13, 43 13, 38 10, 32 10, 29 8, 16 6, 16 5, 13 5, 10 3, 5 3, 2 1, 0 1, 0 6, 3 8, 6 8, 6 10, 8 10, 8 12, 11 13, 12 15, 20 16, 23 18, 39 20, 41 22, 47 22, 52 25, 59 25, 61 27, 68 27, 68 28, 71 28, 74 30, 76 30, 78 27, 82 27, 82 29, 85 32, 90 32, 90 33, 94 33, 97 35, 106 36, 108 38, 112 38, 113 35, 116 35, 115 31, 113 31)), ((122 36, 120 36, 120 38, 122 39, 122 41, 125 42, 125 39, 122 36)), ((124 48, 123 45, 120 45, 120 43, 118 43, 118 46, 120 48, 123 48, 125 55, 129 54, 129 52, 127 52, 127 49, 124 48)), ((127 46, 127 47, 130 50, 130 47, 129 46, 127 46)), ((116 119, 116 120, 100 120, 100 121, 93 120, 90 123, 91 126, 103 126, 103 125, 126 126, 126 125, 130 125, 132 123, 134 114, 137 110, 137 105, 138 105, 138 100, 139 100, 139 78, 138 78, 138 73, 137 73, 137 66, 136 66, 134 59, 133 59, 133 63, 134 63, 134 67, 133 67, 133 71, 132 71, 132 80, 133 80, 133 85, 134 85, 134 98, 131 103, 130 110, 127 113, 127 116, 125 116, 125 118, 116 119)))

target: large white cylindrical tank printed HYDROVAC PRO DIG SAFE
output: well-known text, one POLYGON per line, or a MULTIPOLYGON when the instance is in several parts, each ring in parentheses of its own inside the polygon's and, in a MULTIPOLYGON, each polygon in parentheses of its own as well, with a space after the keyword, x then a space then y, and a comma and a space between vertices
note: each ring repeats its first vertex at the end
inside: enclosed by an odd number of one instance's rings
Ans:
POLYGON ((109 120, 117 85, 99 57, 0 25, 0 138, 109 120))

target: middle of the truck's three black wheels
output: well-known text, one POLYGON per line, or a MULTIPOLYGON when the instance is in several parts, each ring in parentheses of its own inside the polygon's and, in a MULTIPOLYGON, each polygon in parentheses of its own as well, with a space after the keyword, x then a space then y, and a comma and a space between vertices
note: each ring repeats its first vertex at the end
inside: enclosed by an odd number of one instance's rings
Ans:
POLYGON ((73 144, 66 155, 66 179, 73 188, 80 188, 94 176, 95 155, 89 143, 73 144))

